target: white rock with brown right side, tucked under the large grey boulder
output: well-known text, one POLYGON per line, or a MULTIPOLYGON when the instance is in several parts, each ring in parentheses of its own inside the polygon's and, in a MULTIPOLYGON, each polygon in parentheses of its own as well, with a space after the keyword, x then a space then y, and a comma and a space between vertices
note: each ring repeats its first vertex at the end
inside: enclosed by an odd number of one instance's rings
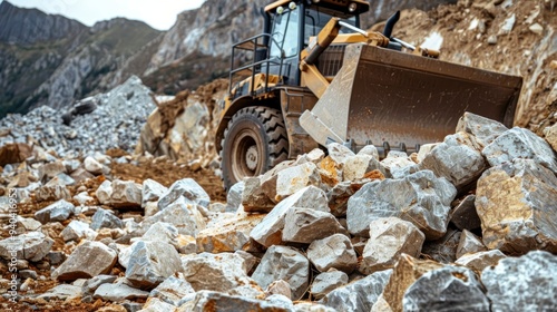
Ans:
POLYGON ((382 217, 371 222, 370 240, 363 248, 360 272, 371 274, 392 269, 402 253, 418 257, 426 235, 410 222, 382 217))

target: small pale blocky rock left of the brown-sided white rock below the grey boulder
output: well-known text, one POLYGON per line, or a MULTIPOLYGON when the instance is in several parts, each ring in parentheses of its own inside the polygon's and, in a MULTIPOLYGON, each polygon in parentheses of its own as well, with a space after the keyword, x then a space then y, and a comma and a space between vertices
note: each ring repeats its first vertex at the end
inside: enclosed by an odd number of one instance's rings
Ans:
POLYGON ((336 269, 351 273, 358 264, 352 243, 344 234, 334 234, 312 242, 307 248, 307 259, 320 272, 336 269))

